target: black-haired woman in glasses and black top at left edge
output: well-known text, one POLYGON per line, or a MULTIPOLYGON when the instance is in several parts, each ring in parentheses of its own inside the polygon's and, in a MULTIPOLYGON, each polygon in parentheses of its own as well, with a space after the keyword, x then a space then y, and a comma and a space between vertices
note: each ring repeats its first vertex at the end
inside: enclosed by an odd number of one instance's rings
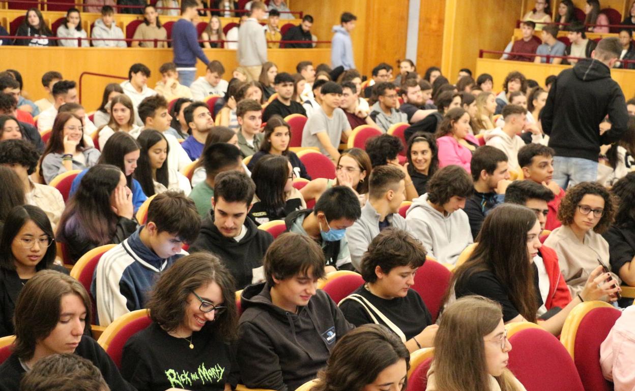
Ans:
POLYGON ((0 236, 0 337, 13 334, 13 310, 22 286, 36 272, 54 269, 55 240, 51 222, 32 205, 15 207, 6 217, 0 236))

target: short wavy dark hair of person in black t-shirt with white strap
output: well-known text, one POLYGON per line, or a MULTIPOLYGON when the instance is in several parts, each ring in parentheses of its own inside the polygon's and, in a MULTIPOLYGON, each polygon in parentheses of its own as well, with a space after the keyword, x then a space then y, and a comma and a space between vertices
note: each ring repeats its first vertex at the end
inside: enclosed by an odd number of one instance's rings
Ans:
POLYGON ((421 242, 404 229, 386 228, 368 245, 361 259, 361 276, 367 283, 374 283, 377 266, 386 274, 399 266, 417 269, 423 266, 426 254, 421 242))

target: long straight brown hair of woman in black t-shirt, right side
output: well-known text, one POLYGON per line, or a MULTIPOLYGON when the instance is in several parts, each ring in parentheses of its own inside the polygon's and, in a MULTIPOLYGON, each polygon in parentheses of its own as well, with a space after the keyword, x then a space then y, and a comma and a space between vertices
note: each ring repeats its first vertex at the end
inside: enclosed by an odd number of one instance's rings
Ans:
POLYGON ((538 301, 527 251, 527 233, 536 215, 521 205, 504 203, 485 217, 472 255, 458 267, 450 286, 464 285, 476 272, 490 271, 505 287, 516 311, 535 322, 538 301))

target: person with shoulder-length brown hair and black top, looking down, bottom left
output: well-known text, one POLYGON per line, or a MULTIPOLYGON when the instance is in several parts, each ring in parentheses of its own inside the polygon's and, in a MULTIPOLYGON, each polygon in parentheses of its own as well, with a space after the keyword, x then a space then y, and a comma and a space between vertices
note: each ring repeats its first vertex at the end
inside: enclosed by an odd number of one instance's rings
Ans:
POLYGON ((3 391, 18 391, 20 379, 52 354, 74 353, 90 360, 111 390, 134 390, 93 338, 90 298, 76 279, 58 271, 36 273, 22 287, 15 304, 15 349, 0 366, 3 391))

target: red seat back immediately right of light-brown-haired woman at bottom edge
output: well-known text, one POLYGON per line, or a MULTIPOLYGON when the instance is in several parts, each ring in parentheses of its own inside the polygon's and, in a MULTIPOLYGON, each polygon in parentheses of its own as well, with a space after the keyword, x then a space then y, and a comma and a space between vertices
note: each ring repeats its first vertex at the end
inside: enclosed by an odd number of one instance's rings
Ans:
POLYGON ((527 391, 584 391, 571 356, 548 331, 527 328, 509 342, 509 369, 527 391))

